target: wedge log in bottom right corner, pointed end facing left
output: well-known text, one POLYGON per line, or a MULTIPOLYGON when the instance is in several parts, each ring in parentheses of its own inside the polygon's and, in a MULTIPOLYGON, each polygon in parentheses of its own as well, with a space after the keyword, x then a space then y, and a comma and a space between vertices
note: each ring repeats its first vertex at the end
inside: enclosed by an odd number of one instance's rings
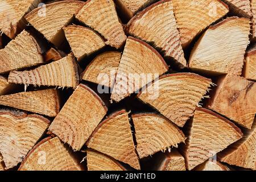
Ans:
POLYGON ((245 137, 218 154, 221 162, 256 170, 256 119, 245 137))

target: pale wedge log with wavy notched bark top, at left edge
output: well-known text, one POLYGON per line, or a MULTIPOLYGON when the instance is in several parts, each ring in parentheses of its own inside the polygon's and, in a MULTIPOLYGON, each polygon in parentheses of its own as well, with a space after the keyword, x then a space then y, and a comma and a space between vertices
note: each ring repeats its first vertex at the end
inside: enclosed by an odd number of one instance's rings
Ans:
POLYGON ((40 115, 0 111, 0 152, 7 169, 22 162, 49 126, 40 115))

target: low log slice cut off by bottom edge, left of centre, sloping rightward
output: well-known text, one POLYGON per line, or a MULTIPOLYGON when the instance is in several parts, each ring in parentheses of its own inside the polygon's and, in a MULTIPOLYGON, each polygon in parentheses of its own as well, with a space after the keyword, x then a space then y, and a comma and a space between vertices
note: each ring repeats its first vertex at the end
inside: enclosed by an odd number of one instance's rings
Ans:
POLYGON ((114 158, 95 150, 87 150, 88 171, 126 171, 114 158))

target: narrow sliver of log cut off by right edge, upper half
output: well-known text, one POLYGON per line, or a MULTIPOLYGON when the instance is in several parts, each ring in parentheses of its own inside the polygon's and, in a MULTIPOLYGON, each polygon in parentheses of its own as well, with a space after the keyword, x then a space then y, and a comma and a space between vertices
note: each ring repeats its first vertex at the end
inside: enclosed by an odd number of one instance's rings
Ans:
POLYGON ((256 81, 256 45, 246 53, 244 76, 248 80, 256 81))

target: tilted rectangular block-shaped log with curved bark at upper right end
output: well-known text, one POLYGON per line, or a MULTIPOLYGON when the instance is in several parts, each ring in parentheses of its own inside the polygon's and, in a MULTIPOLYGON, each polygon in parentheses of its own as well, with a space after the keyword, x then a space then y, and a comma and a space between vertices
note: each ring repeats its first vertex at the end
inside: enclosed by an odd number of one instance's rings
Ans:
POLYGON ((88 86, 80 84, 52 122, 49 131, 78 151, 106 112, 101 98, 88 86))

